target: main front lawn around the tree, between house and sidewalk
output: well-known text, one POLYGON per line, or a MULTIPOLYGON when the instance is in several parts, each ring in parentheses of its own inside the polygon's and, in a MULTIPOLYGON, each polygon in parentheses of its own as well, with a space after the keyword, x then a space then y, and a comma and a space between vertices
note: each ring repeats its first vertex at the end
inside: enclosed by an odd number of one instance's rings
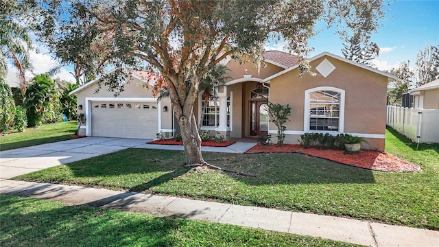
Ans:
POLYGON ((204 153, 251 176, 184 169, 183 152, 128 149, 21 176, 19 180, 183 196, 288 211, 439 229, 438 145, 418 151, 387 132, 389 152, 420 164, 410 173, 374 172, 302 154, 204 153))

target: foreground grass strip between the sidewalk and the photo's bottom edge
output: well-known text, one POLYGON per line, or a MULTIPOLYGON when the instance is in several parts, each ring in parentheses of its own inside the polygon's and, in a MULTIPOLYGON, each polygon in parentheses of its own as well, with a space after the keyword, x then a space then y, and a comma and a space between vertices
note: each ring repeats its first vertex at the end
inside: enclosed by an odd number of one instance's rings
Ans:
POLYGON ((316 237, 0 195, 1 246, 353 246, 316 237))

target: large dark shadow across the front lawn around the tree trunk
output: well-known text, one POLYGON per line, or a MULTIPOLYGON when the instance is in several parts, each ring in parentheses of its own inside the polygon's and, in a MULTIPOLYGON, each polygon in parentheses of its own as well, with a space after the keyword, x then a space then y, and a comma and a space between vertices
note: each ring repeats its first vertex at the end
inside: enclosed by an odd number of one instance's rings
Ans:
POLYGON ((375 183, 373 173, 369 169, 340 165, 303 154, 205 152, 204 158, 211 165, 252 174, 254 177, 231 173, 223 175, 217 172, 201 175, 192 169, 182 167, 185 161, 183 152, 169 150, 128 149, 69 163, 67 166, 75 177, 91 178, 96 181, 92 182, 95 185, 119 184, 119 187, 125 186, 131 192, 145 192, 167 183, 176 183, 175 186, 184 187, 189 185, 181 183, 191 183, 191 180, 200 179, 205 180, 206 186, 215 186, 217 183, 215 181, 228 179, 222 176, 228 176, 247 185, 375 183), (185 179, 174 181, 182 175, 185 175, 185 179), (111 182, 104 181, 108 179, 111 182))

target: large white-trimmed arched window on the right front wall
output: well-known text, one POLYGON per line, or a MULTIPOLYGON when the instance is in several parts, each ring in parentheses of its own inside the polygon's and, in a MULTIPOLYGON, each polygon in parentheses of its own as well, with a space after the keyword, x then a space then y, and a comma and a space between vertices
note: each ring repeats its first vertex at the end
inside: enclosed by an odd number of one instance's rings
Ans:
POLYGON ((344 131, 344 90, 320 86, 305 91, 305 131, 344 131))

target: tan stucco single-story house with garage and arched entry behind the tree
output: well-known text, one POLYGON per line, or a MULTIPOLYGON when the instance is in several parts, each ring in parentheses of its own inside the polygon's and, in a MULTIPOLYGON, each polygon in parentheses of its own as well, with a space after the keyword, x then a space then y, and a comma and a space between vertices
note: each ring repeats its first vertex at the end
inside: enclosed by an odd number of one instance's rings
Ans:
MULTIPOLYGON (((394 75, 324 52, 309 60, 316 76, 300 77, 295 56, 266 51, 264 58, 261 69, 230 58, 221 62, 230 69, 226 86, 195 102, 201 130, 221 132, 227 139, 261 133, 274 137, 276 126, 269 123, 267 112, 270 101, 292 107, 285 143, 298 143, 305 132, 349 133, 367 139, 363 148, 384 150, 387 84, 394 75)), ((150 91, 139 88, 146 82, 138 75, 127 81, 119 97, 105 89, 94 94, 97 80, 72 92, 78 95, 78 112, 86 113, 85 134, 154 138, 160 131, 178 132, 170 100, 156 102, 150 91)))

